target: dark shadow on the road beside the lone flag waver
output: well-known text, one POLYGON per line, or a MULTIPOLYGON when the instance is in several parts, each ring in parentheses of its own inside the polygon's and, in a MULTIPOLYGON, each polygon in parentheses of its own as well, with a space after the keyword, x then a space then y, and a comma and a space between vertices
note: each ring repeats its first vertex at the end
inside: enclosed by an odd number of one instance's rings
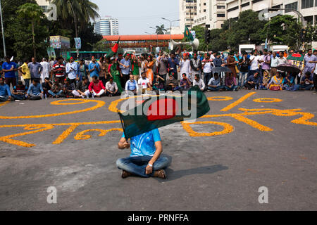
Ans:
POLYGON ((213 174, 221 170, 229 169, 223 165, 212 165, 206 167, 197 167, 192 169, 181 169, 174 171, 173 169, 167 168, 166 174, 168 178, 166 180, 159 180, 160 182, 168 182, 176 179, 180 179, 182 176, 194 175, 194 174, 213 174))

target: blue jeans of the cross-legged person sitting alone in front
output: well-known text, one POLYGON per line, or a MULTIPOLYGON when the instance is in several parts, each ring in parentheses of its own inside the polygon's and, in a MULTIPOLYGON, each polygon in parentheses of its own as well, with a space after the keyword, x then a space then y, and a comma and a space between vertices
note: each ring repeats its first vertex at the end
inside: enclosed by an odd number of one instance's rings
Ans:
POLYGON ((118 159, 116 164, 118 169, 123 169, 126 172, 130 172, 137 176, 150 177, 154 176, 154 172, 159 169, 164 169, 168 167, 169 160, 166 157, 160 157, 153 165, 153 172, 151 174, 145 174, 145 168, 147 164, 153 158, 152 156, 137 156, 118 159))

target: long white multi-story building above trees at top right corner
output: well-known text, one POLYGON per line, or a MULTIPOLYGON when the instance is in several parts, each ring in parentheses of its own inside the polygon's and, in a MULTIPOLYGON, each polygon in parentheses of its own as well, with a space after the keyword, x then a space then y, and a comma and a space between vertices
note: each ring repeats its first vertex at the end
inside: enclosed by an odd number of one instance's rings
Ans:
MULTIPOLYGON (((265 8, 290 8, 299 11, 308 23, 317 24, 317 0, 227 0, 227 19, 238 18, 239 13, 248 9, 261 12, 265 8)), ((297 14, 283 11, 290 15, 297 14)))

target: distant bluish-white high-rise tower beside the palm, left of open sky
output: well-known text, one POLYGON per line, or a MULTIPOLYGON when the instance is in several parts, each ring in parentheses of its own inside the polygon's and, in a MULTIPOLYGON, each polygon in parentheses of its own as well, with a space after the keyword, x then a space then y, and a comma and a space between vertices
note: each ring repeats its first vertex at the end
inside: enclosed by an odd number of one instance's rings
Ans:
POLYGON ((106 17, 99 20, 94 25, 94 32, 104 36, 119 35, 119 22, 118 19, 106 17))

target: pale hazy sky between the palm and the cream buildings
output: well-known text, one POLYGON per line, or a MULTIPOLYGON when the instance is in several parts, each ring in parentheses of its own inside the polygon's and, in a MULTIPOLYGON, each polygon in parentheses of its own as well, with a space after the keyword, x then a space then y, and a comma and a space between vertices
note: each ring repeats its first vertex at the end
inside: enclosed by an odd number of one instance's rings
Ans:
MULTIPOLYGON (((155 33, 156 25, 165 25, 169 28, 168 20, 179 19, 179 0, 90 0, 99 7, 99 15, 104 18, 110 15, 119 20, 119 34, 145 34, 155 33)), ((178 26, 178 22, 173 23, 173 27, 178 26)))

